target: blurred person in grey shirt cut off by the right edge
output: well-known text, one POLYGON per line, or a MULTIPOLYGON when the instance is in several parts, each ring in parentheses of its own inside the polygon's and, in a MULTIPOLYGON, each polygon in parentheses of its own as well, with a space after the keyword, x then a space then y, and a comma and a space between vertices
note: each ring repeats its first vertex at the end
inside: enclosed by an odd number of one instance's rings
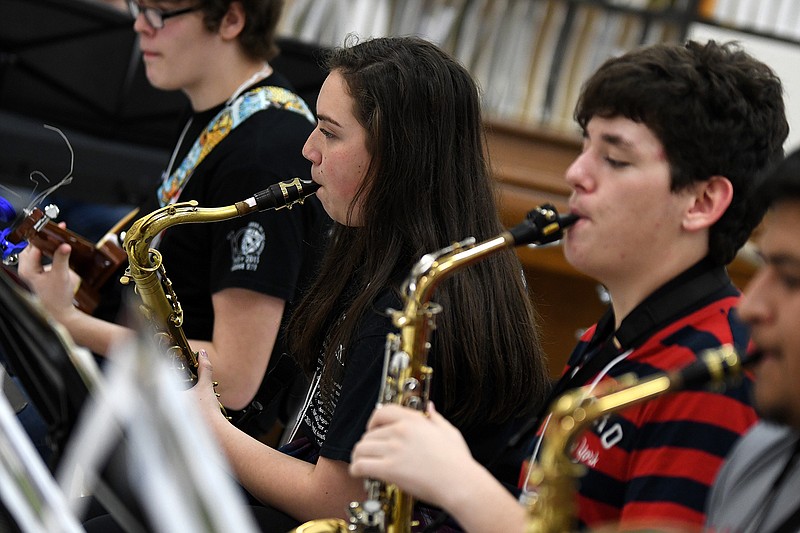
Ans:
POLYGON ((715 533, 800 531, 800 151, 767 175, 756 201, 769 208, 756 239, 762 265, 738 310, 758 357, 753 397, 762 420, 714 482, 706 528, 715 533))

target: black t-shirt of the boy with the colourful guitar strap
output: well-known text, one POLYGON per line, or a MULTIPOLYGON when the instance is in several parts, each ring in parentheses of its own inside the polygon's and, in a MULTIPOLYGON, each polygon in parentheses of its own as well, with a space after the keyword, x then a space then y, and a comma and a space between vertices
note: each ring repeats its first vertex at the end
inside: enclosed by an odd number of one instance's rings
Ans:
MULTIPOLYGON (((278 74, 257 84, 266 85, 291 90, 278 74)), ((222 105, 192 116, 177 151, 175 167, 221 109, 222 105)), ((302 147, 313 128, 307 117, 295 111, 268 108, 254 113, 197 165, 178 201, 196 200, 202 208, 225 207, 280 181, 310 179, 311 163, 303 157, 302 147)), ((158 207, 154 193, 142 213, 158 207)), ((211 297, 227 288, 248 289, 286 300, 282 326, 285 325, 293 304, 316 271, 329 223, 319 201, 311 197, 292 209, 167 228, 158 250, 184 311, 186 336, 211 339, 211 297)), ((271 364, 284 351, 281 335, 271 364)))

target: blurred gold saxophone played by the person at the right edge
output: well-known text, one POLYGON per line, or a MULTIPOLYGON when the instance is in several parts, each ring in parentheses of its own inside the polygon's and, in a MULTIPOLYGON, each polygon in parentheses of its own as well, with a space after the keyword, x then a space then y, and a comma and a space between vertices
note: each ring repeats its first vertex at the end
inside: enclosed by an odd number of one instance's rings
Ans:
MULTIPOLYGON (((752 359, 750 360, 752 361, 752 359)), ((592 422, 631 405, 669 392, 701 385, 724 386, 738 378, 744 364, 731 345, 702 352, 698 360, 681 370, 662 373, 637 382, 634 375, 621 376, 615 385, 592 393, 589 387, 567 391, 553 402, 551 418, 542 436, 541 453, 532 467, 528 484, 536 495, 528 505, 526 533, 575 531, 575 492, 584 467, 571 457, 573 439, 592 422)), ((602 384, 601 384, 602 385, 602 384)))

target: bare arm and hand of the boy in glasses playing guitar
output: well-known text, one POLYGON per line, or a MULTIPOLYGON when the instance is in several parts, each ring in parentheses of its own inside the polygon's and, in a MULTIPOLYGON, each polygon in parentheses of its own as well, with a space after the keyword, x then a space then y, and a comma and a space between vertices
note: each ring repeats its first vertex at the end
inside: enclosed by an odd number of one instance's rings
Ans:
MULTIPOLYGON (((78 286, 69 269, 69 245, 61 245, 51 267, 42 266, 42 253, 28 246, 20 254, 19 273, 33 288, 55 320, 77 344, 107 356, 115 343, 132 331, 88 315, 72 303, 78 286)), ((180 295, 178 295, 180 299, 180 295)), ((205 349, 219 369, 218 392, 223 405, 241 409, 255 396, 269 363, 283 316, 284 300, 246 289, 223 289, 212 296, 214 331, 211 341, 190 340, 205 349)))

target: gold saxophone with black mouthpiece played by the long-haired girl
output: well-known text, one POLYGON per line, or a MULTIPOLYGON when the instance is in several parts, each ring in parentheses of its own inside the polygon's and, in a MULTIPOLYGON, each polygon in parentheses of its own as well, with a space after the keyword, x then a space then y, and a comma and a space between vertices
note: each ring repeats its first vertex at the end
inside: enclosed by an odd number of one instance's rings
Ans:
POLYGON ((143 216, 125 233, 122 246, 128 254, 128 267, 120 282, 135 284, 136 293, 142 298, 139 309, 187 388, 197 382, 197 352, 189 346, 183 332, 183 309, 167 278, 161 254, 150 247, 153 239, 161 231, 178 224, 218 222, 256 211, 291 208, 296 203, 302 204, 318 188, 313 181, 294 178, 227 207, 201 208, 194 200, 180 202, 143 216))

